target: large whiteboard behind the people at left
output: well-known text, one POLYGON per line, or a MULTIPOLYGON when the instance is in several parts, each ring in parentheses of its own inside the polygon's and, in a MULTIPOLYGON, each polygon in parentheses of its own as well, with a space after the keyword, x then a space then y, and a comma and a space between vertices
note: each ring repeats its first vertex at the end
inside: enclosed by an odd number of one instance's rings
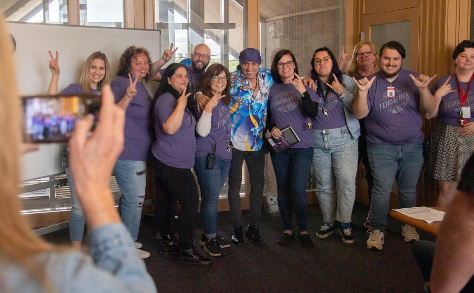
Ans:
MULTIPOLYGON (((16 41, 17 83, 23 95, 46 94, 51 78, 48 50, 53 55, 59 51, 61 75, 58 92, 71 83, 79 83, 82 64, 95 51, 106 54, 112 80, 116 77, 120 55, 129 45, 147 48, 152 61, 161 57, 159 30, 19 22, 9 22, 7 26, 16 41)), ((144 85, 153 97, 158 83, 149 81, 144 85)), ((40 151, 23 156, 22 180, 63 172, 62 148, 61 144, 44 144, 40 146, 40 151)))

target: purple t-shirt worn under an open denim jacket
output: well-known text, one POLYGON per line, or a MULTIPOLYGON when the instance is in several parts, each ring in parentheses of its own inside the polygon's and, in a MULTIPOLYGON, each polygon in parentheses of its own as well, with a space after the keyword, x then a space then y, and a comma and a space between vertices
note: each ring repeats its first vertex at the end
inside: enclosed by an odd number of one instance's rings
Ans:
POLYGON ((317 83, 317 91, 316 91, 316 99, 315 101, 318 102, 318 111, 316 118, 313 119, 313 128, 314 129, 336 129, 347 126, 346 123, 346 116, 344 115, 344 104, 339 99, 336 93, 329 89, 326 84, 321 82, 317 83), (321 95, 322 93, 326 94, 327 91, 327 98, 326 98, 326 111, 327 117, 324 115, 322 110, 324 106, 324 99, 321 95))

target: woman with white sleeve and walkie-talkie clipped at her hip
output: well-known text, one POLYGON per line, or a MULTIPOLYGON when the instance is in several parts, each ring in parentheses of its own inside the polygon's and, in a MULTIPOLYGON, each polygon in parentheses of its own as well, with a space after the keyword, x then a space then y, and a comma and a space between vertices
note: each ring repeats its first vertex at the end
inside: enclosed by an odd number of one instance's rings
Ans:
POLYGON ((198 135, 194 170, 201 190, 201 217, 205 232, 199 243, 213 257, 224 256, 222 248, 231 246, 222 235, 217 235, 219 193, 229 175, 232 159, 229 78, 229 70, 224 65, 216 63, 207 67, 201 91, 211 98, 203 111, 198 113, 196 125, 198 135))

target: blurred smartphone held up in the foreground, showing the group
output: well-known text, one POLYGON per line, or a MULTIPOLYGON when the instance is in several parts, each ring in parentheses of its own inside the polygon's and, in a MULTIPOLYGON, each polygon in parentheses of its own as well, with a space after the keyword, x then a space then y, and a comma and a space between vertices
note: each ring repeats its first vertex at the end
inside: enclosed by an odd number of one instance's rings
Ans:
POLYGON ((67 141, 77 121, 87 114, 93 114, 97 120, 100 99, 94 95, 22 97, 25 141, 67 141))

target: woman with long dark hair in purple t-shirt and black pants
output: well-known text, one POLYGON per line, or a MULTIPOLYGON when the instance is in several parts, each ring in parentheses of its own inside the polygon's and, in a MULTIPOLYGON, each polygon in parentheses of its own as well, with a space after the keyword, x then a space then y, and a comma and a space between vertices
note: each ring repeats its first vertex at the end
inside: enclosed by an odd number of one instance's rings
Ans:
POLYGON ((155 141, 151 163, 156 172, 155 218, 161 235, 161 253, 179 253, 188 264, 210 265, 212 260, 201 256, 193 245, 197 216, 197 184, 192 168, 196 154, 196 119, 187 108, 188 72, 179 63, 164 71, 152 102, 151 122, 155 141), (171 215, 176 200, 181 205, 178 223, 179 248, 171 235, 171 215))

